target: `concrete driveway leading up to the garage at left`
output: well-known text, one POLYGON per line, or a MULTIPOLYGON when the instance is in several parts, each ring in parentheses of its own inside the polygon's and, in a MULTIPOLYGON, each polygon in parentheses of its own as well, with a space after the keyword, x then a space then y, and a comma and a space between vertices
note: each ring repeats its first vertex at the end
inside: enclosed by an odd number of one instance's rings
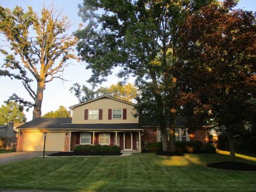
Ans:
MULTIPOLYGON (((45 155, 50 155, 55 153, 53 151, 45 151, 45 155)), ((0 154, 0 164, 22 161, 29 158, 43 156, 43 151, 21 151, 21 152, 11 152, 0 154)))

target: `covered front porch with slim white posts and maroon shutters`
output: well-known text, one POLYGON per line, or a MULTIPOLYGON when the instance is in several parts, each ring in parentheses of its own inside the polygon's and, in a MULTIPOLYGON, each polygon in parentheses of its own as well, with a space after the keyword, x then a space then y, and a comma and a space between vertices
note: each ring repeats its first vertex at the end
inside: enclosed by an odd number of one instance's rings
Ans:
POLYGON ((77 145, 117 145, 125 151, 141 152, 140 131, 73 131, 70 137, 70 150, 77 145))

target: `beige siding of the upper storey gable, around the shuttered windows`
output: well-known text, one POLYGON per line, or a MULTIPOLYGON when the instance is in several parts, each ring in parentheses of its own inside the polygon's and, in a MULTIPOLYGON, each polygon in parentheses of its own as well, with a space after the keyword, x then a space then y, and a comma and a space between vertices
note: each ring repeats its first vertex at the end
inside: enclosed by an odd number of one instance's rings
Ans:
POLYGON ((133 117, 133 106, 121 101, 109 98, 98 99, 73 109, 72 123, 74 124, 98 124, 98 123, 139 123, 139 119, 133 117), (102 120, 84 120, 85 109, 102 109, 102 120), (127 119, 108 120, 108 109, 127 109, 127 119))

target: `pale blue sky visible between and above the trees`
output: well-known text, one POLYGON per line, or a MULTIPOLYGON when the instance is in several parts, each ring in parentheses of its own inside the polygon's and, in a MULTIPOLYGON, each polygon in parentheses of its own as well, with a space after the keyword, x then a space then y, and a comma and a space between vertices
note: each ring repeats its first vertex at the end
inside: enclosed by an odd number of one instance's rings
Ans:
MULTIPOLYGON (((13 9, 15 6, 21 6, 25 11, 28 6, 32 6, 35 12, 40 12, 43 4, 50 5, 54 4, 59 10, 62 10, 63 15, 66 15, 72 24, 72 27, 68 31, 72 33, 77 30, 79 23, 82 23, 82 19, 78 17, 78 4, 82 4, 83 0, 0 0, 0 5, 4 8, 13 9)), ((245 9, 247 11, 256 11, 256 0, 240 0, 238 8, 245 9)), ((4 36, 0 35, 0 42, 5 40, 4 36)), ((2 43, 1 43, 2 44, 2 43)), ((0 63, 3 63, 3 55, 0 55, 0 63)), ((109 86, 111 84, 116 84, 121 79, 118 79, 115 74, 109 76, 108 81, 102 83, 101 86, 109 86)), ((70 61, 70 65, 65 68, 63 72, 63 78, 68 79, 68 81, 62 82, 60 79, 54 79, 52 82, 46 84, 46 89, 44 91, 44 98, 42 104, 42 114, 45 114, 51 110, 57 110, 60 105, 68 108, 69 106, 78 103, 76 97, 73 93, 70 93, 69 89, 74 83, 90 84, 86 83, 86 80, 91 76, 91 70, 85 69, 85 63, 78 63, 76 61, 70 61)), ((133 78, 130 78, 128 82, 133 82, 133 78)), ((0 105, 4 104, 10 95, 17 93, 19 97, 25 98, 26 100, 33 101, 30 99, 27 91, 23 88, 23 85, 18 80, 11 80, 9 77, 0 77, 0 105)), ((31 121, 33 116, 33 109, 29 112, 25 112, 27 121, 31 121)))

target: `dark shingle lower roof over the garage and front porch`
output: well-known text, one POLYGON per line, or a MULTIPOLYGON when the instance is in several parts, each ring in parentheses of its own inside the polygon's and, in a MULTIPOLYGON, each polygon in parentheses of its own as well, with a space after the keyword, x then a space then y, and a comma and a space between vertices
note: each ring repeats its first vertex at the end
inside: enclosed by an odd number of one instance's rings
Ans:
POLYGON ((17 129, 141 129, 139 123, 71 124, 72 118, 36 118, 17 129))

